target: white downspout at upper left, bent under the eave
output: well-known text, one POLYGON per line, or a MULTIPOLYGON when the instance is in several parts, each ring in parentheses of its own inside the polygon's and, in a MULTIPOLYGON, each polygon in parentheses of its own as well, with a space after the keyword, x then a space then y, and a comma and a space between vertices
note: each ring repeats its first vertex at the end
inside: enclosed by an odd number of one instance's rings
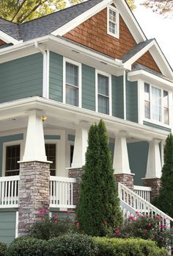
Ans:
POLYGON ((47 85, 47 52, 38 46, 38 42, 34 43, 36 49, 43 54, 43 98, 48 99, 48 85, 47 85))

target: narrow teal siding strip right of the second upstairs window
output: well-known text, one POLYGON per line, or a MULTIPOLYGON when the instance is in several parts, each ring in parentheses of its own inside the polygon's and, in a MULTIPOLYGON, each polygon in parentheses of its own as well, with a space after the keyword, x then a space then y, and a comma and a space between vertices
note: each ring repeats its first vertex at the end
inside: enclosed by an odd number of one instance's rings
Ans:
POLYGON ((123 77, 111 76, 112 115, 124 118, 123 77))

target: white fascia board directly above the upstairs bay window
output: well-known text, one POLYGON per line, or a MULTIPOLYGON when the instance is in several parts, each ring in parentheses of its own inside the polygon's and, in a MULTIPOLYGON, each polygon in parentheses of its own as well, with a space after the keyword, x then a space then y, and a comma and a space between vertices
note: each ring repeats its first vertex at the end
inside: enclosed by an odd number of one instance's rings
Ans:
POLYGON ((154 74, 150 74, 147 71, 139 70, 139 71, 131 71, 128 72, 128 79, 131 82, 137 81, 139 79, 144 80, 144 82, 153 83, 160 85, 162 88, 171 89, 173 88, 173 82, 170 82, 162 77, 158 77, 154 74))

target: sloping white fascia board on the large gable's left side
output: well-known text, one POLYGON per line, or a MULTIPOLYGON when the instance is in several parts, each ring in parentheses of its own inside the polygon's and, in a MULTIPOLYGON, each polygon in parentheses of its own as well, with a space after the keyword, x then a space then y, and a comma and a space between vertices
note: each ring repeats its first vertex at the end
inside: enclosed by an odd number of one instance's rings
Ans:
POLYGON ((74 29, 76 26, 80 25, 84 21, 87 21, 87 19, 91 18, 96 13, 99 13, 101 10, 107 7, 108 4, 111 4, 112 0, 103 0, 100 3, 96 4, 94 7, 90 8, 86 12, 82 13, 81 15, 78 15, 76 18, 73 18, 73 20, 67 22, 67 24, 61 26, 59 29, 54 30, 51 32, 52 35, 65 35, 70 30, 74 29))

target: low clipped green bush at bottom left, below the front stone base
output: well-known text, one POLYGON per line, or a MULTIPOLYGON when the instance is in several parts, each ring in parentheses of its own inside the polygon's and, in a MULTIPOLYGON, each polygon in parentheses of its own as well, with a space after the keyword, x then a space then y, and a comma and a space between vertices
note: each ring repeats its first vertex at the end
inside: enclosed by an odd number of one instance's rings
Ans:
POLYGON ((15 239, 7 250, 7 256, 45 256, 47 241, 21 237, 15 239))

